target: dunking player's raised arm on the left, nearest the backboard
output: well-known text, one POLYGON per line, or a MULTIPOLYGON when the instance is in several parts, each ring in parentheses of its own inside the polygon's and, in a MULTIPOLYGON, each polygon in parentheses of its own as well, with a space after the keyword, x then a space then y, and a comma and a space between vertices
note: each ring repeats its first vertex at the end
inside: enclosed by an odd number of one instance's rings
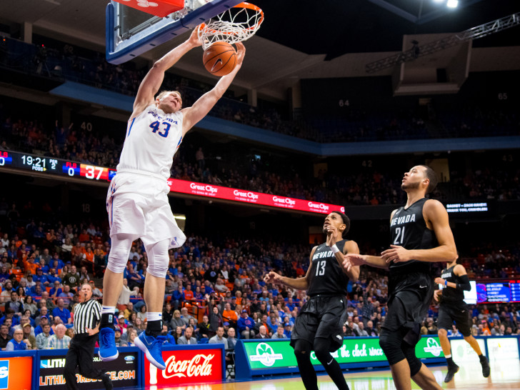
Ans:
POLYGON ((174 66, 188 51, 196 46, 201 46, 197 31, 198 28, 191 31, 191 35, 187 41, 184 41, 175 49, 166 53, 161 59, 157 60, 146 76, 144 76, 137 91, 136 100, 134 101, 134 112, 130 119, 141 114, 147 106, 154 103, 154 96, 159 91, 159 88, 161 88, 161 84, 164 80, 164 72, 170 69, 171 66, 174 66))

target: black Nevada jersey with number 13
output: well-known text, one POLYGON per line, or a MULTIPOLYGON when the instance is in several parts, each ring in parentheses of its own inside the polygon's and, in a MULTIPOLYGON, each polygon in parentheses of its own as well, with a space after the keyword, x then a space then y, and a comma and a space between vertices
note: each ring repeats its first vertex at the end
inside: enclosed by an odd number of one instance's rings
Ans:
MULTIPOLYGON (((338 249, 343 252, 347 240, 336 242, 338 249)), ((349 276, 346 276, 339 266, 332 249, 326 244, 321 244, 312 256, 309 290, 307 295, 342 295, 346 296, 346 286, 349 284, 349 276)))

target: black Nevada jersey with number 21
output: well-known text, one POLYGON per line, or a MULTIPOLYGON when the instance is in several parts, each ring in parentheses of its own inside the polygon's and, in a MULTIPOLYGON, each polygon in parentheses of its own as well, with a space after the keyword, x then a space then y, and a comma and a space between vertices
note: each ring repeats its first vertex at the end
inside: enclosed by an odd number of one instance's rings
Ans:
MULTIPOLYGON (((409 206, 401 207, 390 221, 391 244, 403 246, 405 249, 431 249, 439 246, 435 232, 426 227, 423 217, 423 206, 428 199, 423 198, 409 206)), ((430 269, 429 263, 419 260, 391 262, 390 275, 409 274, 411 272, 426 272, 430 269)))

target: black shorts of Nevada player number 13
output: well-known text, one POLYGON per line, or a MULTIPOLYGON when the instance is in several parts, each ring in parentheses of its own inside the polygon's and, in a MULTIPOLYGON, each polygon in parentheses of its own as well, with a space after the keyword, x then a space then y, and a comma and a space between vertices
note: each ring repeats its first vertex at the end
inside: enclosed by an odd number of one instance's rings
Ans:
POLYGON ((313 296, 304 304, 294 321, 291 346, 298 339, 314 345, 317 337, 331 339, 331 352, 343 345, 343 324, 346 320, 345 296, 313 296))

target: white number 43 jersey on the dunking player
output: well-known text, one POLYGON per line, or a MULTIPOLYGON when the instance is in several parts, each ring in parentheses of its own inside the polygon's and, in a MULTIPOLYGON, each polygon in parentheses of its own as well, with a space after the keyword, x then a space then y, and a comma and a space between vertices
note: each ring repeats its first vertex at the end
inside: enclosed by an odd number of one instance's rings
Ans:
POLYGON ((134 172, 169 179, 174 154, 182 141, 182 113, 165 114, 151 104, 126 129, 118 172, 134 172))

